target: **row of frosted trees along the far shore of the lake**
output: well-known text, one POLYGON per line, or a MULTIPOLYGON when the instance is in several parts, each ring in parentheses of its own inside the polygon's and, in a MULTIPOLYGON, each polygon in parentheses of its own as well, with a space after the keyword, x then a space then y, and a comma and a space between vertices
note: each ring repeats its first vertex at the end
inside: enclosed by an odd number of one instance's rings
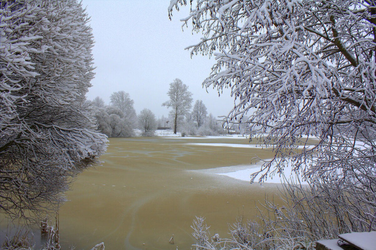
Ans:
POLYGON ((171 127, 174 133, 182 135, 217 135, 223 131, 216 118, 208 115, 202 100, 196 100, 192 108, 192 93, 188 86, 176 78, 167 92, 169 100, 162 103, 170 109, 169 116, 156 119, 150 109, 143 109, 139 115, 133 108, 134 101, 129 93, 117 91, 111 94, 109 105, 97 96, 89 104, 94 108, 97 129, 108 137, 135 136, 135 129, 142 136, 153 136, 158 127, 171 127))

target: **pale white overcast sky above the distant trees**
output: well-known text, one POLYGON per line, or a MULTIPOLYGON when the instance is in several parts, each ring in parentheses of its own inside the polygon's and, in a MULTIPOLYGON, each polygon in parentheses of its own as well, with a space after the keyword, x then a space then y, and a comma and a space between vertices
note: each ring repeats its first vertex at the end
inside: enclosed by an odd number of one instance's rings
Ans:
MULTIPOLYGON (((202 88, 209 76, 214 58, 194 55, 184 50, 199 42, 202 34, 192 35, 191 27, 184 28, 181 18, 188 16, 189 6, 174 10, 168 18, 169 0, 105 1, 82 0, 82 6, 91 16, 94 34, 94 65, 96 77, 91 81, 88 99, 100 96, 109 103, 114 91, 124 90, 135 101, 139 113, 151 109, 156 118, 167 116, 161 104, 168 100, 170 82, 180 78, 193 93, 193 103, 203 100, 208 113, 227 115, 233 107, 230 91, 218 97, 212 87, 202 88)), ((188 1, 189 5, 189 1, 188 1)))

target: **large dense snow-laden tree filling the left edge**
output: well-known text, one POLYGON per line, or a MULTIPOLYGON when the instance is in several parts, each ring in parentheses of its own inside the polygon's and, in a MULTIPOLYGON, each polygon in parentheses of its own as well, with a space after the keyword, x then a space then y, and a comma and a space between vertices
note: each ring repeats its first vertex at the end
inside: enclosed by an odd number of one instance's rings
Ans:
POLYGON ((106 150, 85 102, 93 36, 76 0, 0 6, 0 210, 37 217, 106 150))

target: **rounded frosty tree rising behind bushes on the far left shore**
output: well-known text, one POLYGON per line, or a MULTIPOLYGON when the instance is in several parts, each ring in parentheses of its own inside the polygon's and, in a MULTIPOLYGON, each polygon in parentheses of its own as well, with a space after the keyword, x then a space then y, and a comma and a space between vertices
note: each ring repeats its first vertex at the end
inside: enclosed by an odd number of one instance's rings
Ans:
POLYGON ((133 108, 134 101, 130 99, 129 93, 125 91, 117 91, 111 94, 110 96, 111 105, 119 108, 126 119, 133 124, 136 124, 137 115, 135 108, 133 108))

